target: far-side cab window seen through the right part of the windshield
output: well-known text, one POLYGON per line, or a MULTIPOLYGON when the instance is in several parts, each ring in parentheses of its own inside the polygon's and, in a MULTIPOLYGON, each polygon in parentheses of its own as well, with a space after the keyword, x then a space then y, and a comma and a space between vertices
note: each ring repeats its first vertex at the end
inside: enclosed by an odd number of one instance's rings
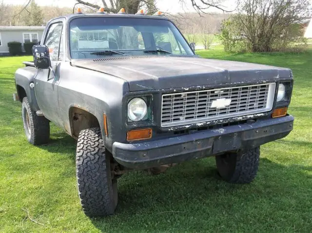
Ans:
POLYGON ((157 47, 178 55, 186 54, 170 29, 168 33, 154 33, 154 38, 157 47))

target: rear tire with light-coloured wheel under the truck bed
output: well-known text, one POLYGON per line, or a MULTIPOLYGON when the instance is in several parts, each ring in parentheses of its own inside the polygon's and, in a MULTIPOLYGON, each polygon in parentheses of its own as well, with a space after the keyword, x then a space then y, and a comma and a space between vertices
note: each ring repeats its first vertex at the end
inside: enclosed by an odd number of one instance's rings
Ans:
POLYGON ((23 98, 21 113, 27 140, 33 145, 47 144, 50 138, 50 122, 45 117, 37 116, 27 97, 23 98))

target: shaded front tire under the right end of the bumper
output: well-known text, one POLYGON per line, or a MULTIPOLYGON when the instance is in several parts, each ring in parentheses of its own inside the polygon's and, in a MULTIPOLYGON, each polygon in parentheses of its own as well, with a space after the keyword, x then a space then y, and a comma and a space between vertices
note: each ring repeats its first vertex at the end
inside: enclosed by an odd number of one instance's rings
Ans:
POLYGON ((260 147, 215 156, 219 175, 229 183, 248 184, 257 175, 260 147))

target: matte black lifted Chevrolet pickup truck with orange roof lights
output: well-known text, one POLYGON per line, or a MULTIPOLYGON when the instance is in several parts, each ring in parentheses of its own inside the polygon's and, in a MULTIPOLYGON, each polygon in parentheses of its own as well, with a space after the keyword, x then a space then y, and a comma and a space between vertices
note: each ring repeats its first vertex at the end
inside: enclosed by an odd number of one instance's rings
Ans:
POLYGON ((78 139, 88 216, 115 212, 130 170, 215 156, 224 180, 250 183, 260 145, 292 131, 290 69, 199 58, 160 13, 52 19, 33 55, 15 74, 27 139, 48 143, 50 121, 78 139))

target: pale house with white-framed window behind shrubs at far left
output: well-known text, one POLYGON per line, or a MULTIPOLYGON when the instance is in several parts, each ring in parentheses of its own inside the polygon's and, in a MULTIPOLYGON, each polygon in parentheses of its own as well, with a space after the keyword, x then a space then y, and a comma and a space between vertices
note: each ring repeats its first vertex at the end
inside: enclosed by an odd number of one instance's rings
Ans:
POLYGON ((8 42, 19 41, 39 42, 41 40, 43 30, 41 26, 0 26, 0 56, 9 55, 8 42))

